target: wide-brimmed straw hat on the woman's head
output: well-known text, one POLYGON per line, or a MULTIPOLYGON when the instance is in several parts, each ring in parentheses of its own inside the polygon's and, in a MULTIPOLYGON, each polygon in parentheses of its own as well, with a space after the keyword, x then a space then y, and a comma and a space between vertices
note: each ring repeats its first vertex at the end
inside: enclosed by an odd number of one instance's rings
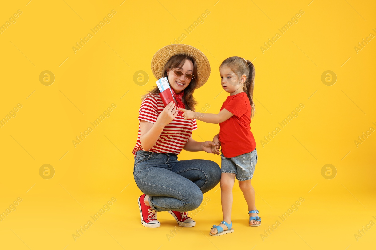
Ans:
POLYGON ((208 81, 210 75, 210 64, 208 58, 206 58, 206 56, 198 49, 181 43, 164 46, 154 54, 151 66, 155 78, 159 79, 162 77, 163 67, 173 55, 177 54, 189 55, 196 61, 197 78, 199 80, 196 88, 204 85, 205 82, 208 81))

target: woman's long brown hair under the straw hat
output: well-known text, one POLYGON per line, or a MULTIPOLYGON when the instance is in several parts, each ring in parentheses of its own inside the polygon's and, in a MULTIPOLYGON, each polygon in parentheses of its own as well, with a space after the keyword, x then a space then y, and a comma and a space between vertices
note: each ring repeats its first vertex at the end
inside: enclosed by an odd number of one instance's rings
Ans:
MULTIPOLYGON (((167 61, 167 63, 163 67, 162 75, 160 77, 161 78, 167 77, 167 71, 166 70, 169 69, 169 68, 182 67, 183 64, 185 63, 185 60, 192 61, 192 63, 193 63, 193 73, 192 74, 195 76, 195 78, 191 79, 191 82, 188 85, 188 87, 186 87, 184 89, 184 94, 183 94, 183 97, 182 97, 182 102, 185 104, 185 109, 189 109, 189 110, 194 111, 194 106, 197 105, 197 102, 193 98, 193 92, 194 92, 194 90, 195 90, 195 88, 197 86, 197 81, 198 81, 196 61, 192 57, 190 57, 188 55, 184 55, 184 54, 174 55, 174 56, 172 56, 170 58, 170 60, 167 61)), ((173 73, 173 72, 170 71, 170 74, 171 73, 173 73)), ((167 79, 168 79, 168 77, 167 77, 167 79)), ((144 94, 141 97, 141 100, 144 100, 146 97, 148 97, 151 94, 158 94, 158 93, 160 93, 160 91, 159 91, 159 88, 156 86, 152 90, 150 90, 146 94, 144 94)))

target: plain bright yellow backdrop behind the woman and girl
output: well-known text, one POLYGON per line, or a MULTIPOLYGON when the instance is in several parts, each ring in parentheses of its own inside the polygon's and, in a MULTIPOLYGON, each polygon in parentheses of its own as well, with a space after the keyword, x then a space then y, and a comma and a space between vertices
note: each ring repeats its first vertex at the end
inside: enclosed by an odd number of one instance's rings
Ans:
MULTIPOLYGON (((20 9, 14 24, 0 34, 0 118, 17 103, 22 108, 0 128, 0 212, 18 197, 16 210, 0 222, 1 249, 373 249, 376 226, 358 241, 354 234, 376 223, 375 142, 371 133, 354 141, 376 123, 375 52, 371 39, 361 51, 354 46, 376 35, 373 1, 7 1, 0 24, 20 9), (74 53, 72 47, 114 9, 116 14, 74 53), (203 23, 184 30, 209 10, 203 23), (264 53, 260 47, 302 9, 304 14, 264 53), (197 89, 197 109, 219 111, 227 94, 218 67, 230 56, 253 61, 255 118, 251 130, 258 150, 253 178, 261 226, 247 226, 247 206, 234 187, 233 234, 210 237, 222 220, 219 185, 210 202, 194 216, 197 225, 183 228, 167 213, 159 228, 139 222, 133 180, 133 155, 140 96, 155 86, 150 70, 158 49, 174 42, 200 49, 211 64, 211 76, 197 89), (50 70, 52 85, 39 75, 50 70), (133 81, 144 70, 145 85, 133 81), (332 70, 334 85, 321 75, 332 70), (125 94, 125 95, 124 95, 125 94), (98 127, 74 147, 72 140, 91 126, 107 107, 98 127), (304 108, 262 147, 260 140, 303 103, 304 108), (55 175, 41 178, 50 164, 55 175), (321 168, 332 164, 331 180, 321 168), (125 189, 124 189, 125 188, 125 189), (313 189, 312 189, 313 188, 313 189), (72 234, 103 205, 116 198, 81 237, 72 234), (278 216, 304 198, 288 218, 278 216), (261 234, 281 222, 267 238, 261 234)), ((217 124, 198 122, 197 141, 211 140, 217 124)), ((183 151, 179 160, 220 157, 183 151)))

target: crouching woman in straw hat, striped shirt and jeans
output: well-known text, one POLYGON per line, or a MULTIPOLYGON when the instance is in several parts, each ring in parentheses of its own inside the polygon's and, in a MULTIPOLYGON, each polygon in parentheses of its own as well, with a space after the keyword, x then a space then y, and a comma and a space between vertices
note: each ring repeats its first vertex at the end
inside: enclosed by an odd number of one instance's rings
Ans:
POLYGON ((157 212, 168 211, 179 225, 194 226, 196 222, 186 211, 199 207, 203 193, 219 183, 221 169, 210 160, 178 161, 177 155, 183 149, 218 154, 215 152, 218 145, 192 139, 192 130, 197 129, 196 119, 184 120, 177 108, 194 111, 193 92, 208 80, 209 61, 192 46, 173 44, 156 52, 152 72, 157 79, 168 78, 177 104, 170 102, 164 106, 155 87, 143 96, 139 109, 133 175, 144 193, 138 198, 141 224, 159 227, 157 212))

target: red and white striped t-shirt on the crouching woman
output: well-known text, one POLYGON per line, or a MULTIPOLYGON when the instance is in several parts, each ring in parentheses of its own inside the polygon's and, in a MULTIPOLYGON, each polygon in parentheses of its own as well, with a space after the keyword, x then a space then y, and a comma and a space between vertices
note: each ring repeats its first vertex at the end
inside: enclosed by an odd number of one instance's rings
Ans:
MULTIPOLYGON (((158 94, 152 94, 146 97, 141 103, 141 107, 138 111, 138 120, 155 123, 164 108, 165 106, 163 105, 161 97, 158 94)), ((196 119, 184 120, 184 118, 178 114, 171 123, 164 127, 156 144, 148 151, 179 154, 191 137, 192 130, 195 129, 197 129, 196 119)), ((134 155, 136 151, 143 150, 140 142, 140 134, 141 129, 138 125, 137 142, 132 151, 134 155)))

